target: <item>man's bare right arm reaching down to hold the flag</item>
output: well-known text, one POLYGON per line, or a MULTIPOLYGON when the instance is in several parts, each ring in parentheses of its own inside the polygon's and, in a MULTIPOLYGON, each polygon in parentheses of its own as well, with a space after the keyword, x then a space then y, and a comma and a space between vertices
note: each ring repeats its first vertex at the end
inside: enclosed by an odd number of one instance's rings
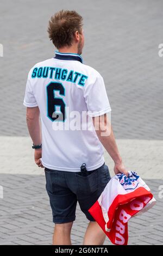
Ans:
POLYGON ((99 141, 103 144, 106 151, 111 156, 112 160, 115 163, 114 172, 124 173, 128 176, 128 172, 124 167, 122 162, 122 157, 118 151, 118 147, 115 141, 114 133, 112 131, 111 124, 106 114, 101 115, 100 117, 93 117, 93 125, 95 126, 95 130, 99 141))

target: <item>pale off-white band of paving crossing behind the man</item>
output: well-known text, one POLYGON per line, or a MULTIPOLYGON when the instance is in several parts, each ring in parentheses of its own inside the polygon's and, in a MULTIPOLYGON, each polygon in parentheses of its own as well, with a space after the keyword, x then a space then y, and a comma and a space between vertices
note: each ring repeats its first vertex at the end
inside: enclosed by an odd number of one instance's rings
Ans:
MULTIPOLYGON (((33 161, 29 137, 0 136, 0 141, 0 173, 44 174, 33 161)), ((128 170, 138 172, 144 179, 161 179, 163 184, 163 141, 117 139, 117 144, 128 170)), ((105 162, 114 175, 114 162, 106 152, 105 162)))

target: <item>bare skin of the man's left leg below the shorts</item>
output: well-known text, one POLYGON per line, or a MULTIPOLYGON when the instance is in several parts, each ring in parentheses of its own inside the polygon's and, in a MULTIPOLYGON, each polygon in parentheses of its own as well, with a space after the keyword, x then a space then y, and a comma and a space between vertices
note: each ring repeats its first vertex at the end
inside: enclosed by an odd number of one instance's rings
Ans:
POLYGON ((73 222, 55 224, 53 245, 71 245, 71 228, 73 222))

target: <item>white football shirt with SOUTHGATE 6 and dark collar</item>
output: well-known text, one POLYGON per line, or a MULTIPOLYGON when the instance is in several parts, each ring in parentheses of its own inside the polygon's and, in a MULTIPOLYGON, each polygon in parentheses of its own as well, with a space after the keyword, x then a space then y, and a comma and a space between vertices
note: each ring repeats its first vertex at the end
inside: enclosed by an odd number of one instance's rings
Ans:
POLYGON ((104 163, 103 147, 92 117, 110 112, 102 76, 82 57, 55 53, 28 75, 24 106, 40 109, 42 164, 49 169, 79 172, 104 163))

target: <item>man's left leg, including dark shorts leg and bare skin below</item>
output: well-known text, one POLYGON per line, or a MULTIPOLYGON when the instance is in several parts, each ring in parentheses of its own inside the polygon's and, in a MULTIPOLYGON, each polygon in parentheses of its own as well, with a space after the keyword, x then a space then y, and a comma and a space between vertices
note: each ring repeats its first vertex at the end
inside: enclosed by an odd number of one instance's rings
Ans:
POLYGON ((45 175, 46 190, 55 223, 53 245, 71 245, 70 233, 76 219, 77 196, 67 183, 72 180, 73 184, 76 184, 73 179, 74 173, 45 168, 45 175))

